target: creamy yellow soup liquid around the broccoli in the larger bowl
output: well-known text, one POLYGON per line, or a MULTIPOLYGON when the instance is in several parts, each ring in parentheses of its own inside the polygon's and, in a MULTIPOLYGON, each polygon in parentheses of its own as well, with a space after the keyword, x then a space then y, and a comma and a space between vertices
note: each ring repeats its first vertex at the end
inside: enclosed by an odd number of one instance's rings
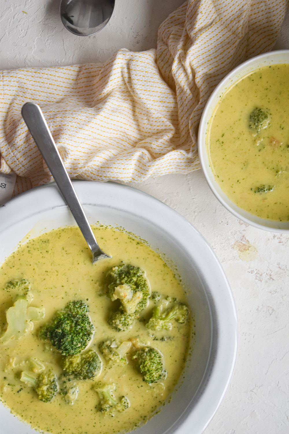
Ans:
POLYGON ((45 318, 34 322, 32 332, 19 339, 0 344, 0 398, 11 412, 33 428, 53 434, 112 434, 130 431, 145 423, 164 404, 175 388, 188 352, 190 320, 185 324, 174 321, 172 330, 151 332, 145 327, 153 302, 141 312, 131 329, 116 332, 107 324, 113 302, 104 295, 104 276, 120 261, 141 267, 152 291, 176 297, 185 302, 185 292, 169 266, 145 242, 130 234, 109 227, 93 228, 101 248, 112 258, 91 265, 91 255, 76 227, 66 227, 45 233, 20 246, 0 269, 0 324, 6 329, 6 309, 13 305, 16 290, 9 293, 3 287, 10 279, 25 278, 31 283, 31 306, 44 307, 45 318), (39 340, 39 329, 67 302, 82 299, 88 304, 95 327, 89 348, 102 359, 101 373, 93 380, 80 380, 78 398, 73 405, 65 403, 59 394, 50 402, 39 401, 36 393, 19 380, 26 361, 35 357, 61 375, 60 355, 39 340), (108 338, 126 341, 138 338, 162 353, 166 378, 147 384, 132 358, 127 365, 107 362, 98 345, 108 338), (130 408, 114 417, 97 411, 99 401, 93 389, 95 381, 116 385, 115 397, 127 396, 130 408))

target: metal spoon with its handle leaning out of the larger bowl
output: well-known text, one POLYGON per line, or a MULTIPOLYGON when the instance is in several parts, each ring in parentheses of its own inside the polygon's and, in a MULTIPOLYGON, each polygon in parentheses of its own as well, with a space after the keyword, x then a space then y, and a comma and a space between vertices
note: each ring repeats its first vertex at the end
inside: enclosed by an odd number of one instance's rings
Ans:
POLYGON ((88 243, 92 253, 92 263, 99 259, 110 258, 111 256, 104 253, 95 240, 39 105, 26 102, 22 107, 21 114, 85 241, 88 243))

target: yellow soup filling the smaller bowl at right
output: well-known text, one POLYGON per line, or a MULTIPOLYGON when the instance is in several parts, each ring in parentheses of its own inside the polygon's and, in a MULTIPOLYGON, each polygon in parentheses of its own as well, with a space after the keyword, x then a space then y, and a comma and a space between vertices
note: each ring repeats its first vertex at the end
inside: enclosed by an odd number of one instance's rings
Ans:
POLYGON ((258 69, 221 97, 207 149, 231 201, 258 217, 289 220, 289 65, 258 69), (265 113, 259 128, 256 110, 265 113))

